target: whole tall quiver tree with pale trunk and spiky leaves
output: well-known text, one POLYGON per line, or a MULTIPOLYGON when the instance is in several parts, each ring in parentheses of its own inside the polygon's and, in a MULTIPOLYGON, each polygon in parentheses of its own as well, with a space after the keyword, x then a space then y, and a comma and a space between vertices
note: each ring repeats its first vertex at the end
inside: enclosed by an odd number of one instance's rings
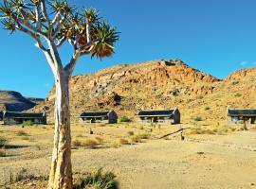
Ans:
POLYGON ((68 78, 84 55, 114 53, 116 28, 102 22, 96 9, 76 9, 65 0, 2 0, 1 23, 11 34, 21 31, 42 50, 55 77, 55 134, 48 188, 72 188, 68 78), (59 49, 68 42, 73 55, 63 62, 59 49))

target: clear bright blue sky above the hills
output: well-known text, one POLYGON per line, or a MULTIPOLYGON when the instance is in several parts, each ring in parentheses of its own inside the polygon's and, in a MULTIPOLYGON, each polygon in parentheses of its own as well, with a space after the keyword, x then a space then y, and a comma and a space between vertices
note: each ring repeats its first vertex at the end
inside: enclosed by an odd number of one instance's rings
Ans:
MULTIPOLYGON (((120 63, 180 59, 212 76, 256 66, 255 0, 72 0, 94 7, 117 26, 116 54, 104 60, 79 60, 74 75, 120 63)), ((53 76, 42 52, 22 33, 0 30, 0 90, 46 97, 53 76)), ((63 60, 70 58, 67 46, 63 60)))

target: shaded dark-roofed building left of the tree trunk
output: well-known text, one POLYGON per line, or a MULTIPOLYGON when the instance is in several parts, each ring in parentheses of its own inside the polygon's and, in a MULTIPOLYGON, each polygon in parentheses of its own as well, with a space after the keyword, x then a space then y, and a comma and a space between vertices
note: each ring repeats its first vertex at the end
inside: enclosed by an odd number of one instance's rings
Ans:
POLYGON ((46 125, 46 112, 4 112, 3 121, 4 125, 23 124, 26 121, 46 125))

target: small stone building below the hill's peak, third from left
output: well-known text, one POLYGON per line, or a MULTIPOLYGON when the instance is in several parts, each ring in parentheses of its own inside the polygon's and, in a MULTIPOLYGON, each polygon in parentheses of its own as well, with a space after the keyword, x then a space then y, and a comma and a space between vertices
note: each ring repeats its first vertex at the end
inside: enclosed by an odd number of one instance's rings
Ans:
POLYGON ((138 120, 146 123, 180 124, 180 112, 177 108, 167 111, 139 111, 138 120))

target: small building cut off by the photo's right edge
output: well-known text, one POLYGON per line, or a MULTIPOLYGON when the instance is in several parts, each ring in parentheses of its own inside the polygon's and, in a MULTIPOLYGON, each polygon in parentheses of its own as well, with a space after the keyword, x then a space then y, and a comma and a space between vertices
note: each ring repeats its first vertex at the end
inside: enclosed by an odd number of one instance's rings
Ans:
POLYGON ((255 124, 256 109, 228 109, 229 124, 255 124))

